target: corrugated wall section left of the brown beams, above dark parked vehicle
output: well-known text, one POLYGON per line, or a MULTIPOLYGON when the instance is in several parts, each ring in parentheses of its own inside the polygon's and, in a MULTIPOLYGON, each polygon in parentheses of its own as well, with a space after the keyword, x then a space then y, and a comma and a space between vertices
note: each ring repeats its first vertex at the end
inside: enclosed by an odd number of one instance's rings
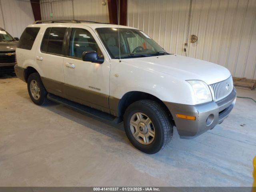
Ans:
POLYGON ((0 0, 0 27, 20 38, 27 25, 34 22, 30 1, 0 0))

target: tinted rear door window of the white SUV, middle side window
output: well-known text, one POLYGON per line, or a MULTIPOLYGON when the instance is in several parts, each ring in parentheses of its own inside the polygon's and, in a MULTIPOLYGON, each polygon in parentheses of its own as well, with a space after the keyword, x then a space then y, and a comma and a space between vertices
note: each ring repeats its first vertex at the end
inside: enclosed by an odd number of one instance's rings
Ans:
POLYGON ((42 40, 42 52, 61 55, 65 32, 66 28, 62 27, 47 28, 42 40))

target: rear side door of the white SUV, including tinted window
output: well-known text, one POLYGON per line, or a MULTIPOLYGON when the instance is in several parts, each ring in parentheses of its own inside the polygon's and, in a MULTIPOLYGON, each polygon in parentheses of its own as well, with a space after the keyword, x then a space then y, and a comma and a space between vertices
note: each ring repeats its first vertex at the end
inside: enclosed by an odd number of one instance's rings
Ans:
POLYGON ((35 58, 46 90, 58 96, 64 96, 63 58, 67 34, 66 26, 46 28, 35 58))

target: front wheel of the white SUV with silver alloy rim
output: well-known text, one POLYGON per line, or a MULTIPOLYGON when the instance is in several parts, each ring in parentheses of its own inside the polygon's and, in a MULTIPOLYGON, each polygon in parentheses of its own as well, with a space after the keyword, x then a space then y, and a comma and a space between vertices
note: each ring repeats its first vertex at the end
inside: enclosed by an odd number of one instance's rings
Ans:
POLYGON ((128 106, 124 114, 124 129, 134 147, 147 154, 162 150, 173 134, 168 114, 152 100, 139 100, 128 106))

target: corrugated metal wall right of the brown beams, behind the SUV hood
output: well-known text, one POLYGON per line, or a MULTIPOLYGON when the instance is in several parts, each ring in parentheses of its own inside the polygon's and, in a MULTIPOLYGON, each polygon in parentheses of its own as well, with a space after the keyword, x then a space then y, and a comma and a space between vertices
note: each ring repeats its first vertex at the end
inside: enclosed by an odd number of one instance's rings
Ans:
MULTIPOLYGON (((128 26, 144 30, 166 51, 184 54, 190 0, 128 0, 128 26)), ((187 54, 256 79, 256 0, 193 0, 187 54)))

